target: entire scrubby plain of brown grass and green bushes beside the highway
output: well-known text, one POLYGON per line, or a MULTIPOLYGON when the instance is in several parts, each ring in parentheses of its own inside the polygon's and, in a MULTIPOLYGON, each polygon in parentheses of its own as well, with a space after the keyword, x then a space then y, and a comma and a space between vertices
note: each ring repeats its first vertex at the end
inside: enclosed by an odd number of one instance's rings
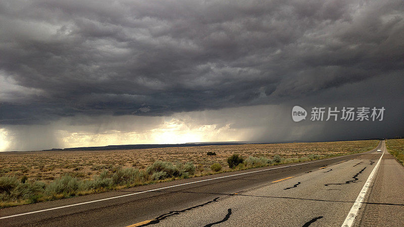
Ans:
MULTIPOLYGON (((173 148, 159 148, 143 150, 142 152, 147 155, 147 158, 144 159, 130 157, 133 152, 139 152, 139 150, 128 150, 125 151, 126 153, 117 151, 121 156, 116 159, 114 151, 72 153, 65 151, 63 157, 59 155, 59 151, 5 152, 0 154, 0 164, 2 164, 0 168, 0 207, 69 198, 241 169, 347 155, 371 150, 377 143, 378 141, 372 140, 206 146, 193 148, 193 153, 187 153, 189 148, 184 148, 184 150, 177 148, 176 152, 171 152, 173 148), (289 146, 290 151, 284 149, 286 145, 289 146), (328 147, 329 150, 324 150, 321 146, 328 147), (217 152, 217 155, 207 157, 206 149, 209 147, 215 149, 214 153, 217 152), (263 147, 272 147, 274 151, 261 150, 263 147), (178 155, 182 157, 183 153, 188 154, 187 158, 177 158, 174 159, 175 161, 160 159, 172 160, 178 155), (105 156, 100 158, 97 155, 105 156), (41 161, 38 161, 38 156, 42 158, 41 161), (67 160, 66 156, 72 159, 67 160), (78 160, 77 156, 85 158, 78 160), (95 158, 98 158, 98 161, 95 162, 95 158), (197 164, 194 164, 195 162, 197 164)), ((400 146, 402 154, 402 142, 400 146)))

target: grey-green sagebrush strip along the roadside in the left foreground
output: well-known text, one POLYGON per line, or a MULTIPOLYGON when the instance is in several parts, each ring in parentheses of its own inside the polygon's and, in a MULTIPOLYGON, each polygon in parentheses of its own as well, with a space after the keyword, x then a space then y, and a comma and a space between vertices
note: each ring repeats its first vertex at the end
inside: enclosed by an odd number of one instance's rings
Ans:
POLYGON ((77 177, 66 175, 45 184, 35 180, 22 181, 24 178, 19 180, 16 176, 3 176, 0 177, 0 205, 69 198, 122 187, 151 184, 159 180, 188 178, 194 173, 195 166, 192 162, 173 164, 156 161, 146 170, 121 167, 105 169, 92 180, 80 180, 77 177))

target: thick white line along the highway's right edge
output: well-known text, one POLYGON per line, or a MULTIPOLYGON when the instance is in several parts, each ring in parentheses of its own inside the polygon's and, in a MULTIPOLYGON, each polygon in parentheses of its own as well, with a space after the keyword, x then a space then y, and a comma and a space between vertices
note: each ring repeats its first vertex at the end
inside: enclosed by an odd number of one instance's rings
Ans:
POLYGON ((363 186, 361 192, 358 195, 357 200, 355 201, 354 205, 350 209, 350 211, 349 211, 348 215, 346 216, 345 221, 342 223, 341 227, 350 227, 354 224, 354 221, 355 221, 356 217, 358 216, 359 209, 361 208, 361 206, 363 204, 363 200, 365 199, 365 196, 366 196, 366 193, 367 193, 369 187, 372 185, 373 177, 380 165, 380 162, 381 162, 384 152, 386 150, 385 146, 383 148, 384 148, 383 153, 380 156, 379 161, 373 168, 373 171, 370 173, 368 180, 365 182, 365 185, 363 186))

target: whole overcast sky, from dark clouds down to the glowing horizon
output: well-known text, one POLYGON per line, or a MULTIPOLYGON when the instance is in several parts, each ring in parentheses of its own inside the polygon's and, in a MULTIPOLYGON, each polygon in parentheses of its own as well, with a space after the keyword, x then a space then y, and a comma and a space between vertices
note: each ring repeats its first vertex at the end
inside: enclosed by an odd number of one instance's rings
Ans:
POLYGON ((404 136, 403 40, 402 0, 1 1, 0 150, 404 136))

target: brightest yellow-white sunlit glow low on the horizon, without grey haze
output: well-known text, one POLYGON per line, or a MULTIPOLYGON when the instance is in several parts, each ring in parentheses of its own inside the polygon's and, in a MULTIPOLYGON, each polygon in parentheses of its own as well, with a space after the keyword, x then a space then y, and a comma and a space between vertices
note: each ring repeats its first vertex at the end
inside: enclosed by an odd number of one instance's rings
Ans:
MULTIPOLYGON (((157 117, 159 118, 159 117, 157 117)), ((59 125, 52 132, 58 140, 60 147, 48 147, 53 145, 42 144, 36 149, 107 146, 122 144, 177 144, 187 142, 212 142, 212 141, 239 141, 242 140, 242 133, 239 130, 231 129, 230 124, 218 126, 217 124, 207 125, 195 122, 188 122, 181 118, 169 118, 156 124, 147 130, 133 131, 118 128, 106 127, 100 132, 85 131, 79 129, 72 131, 65 126, 59 125)), ((37 133, 40 133, 38 129, 37 133)), ((0 151, 23 151, 28 147, 20 146, 21 138, 13 137, 13 132, 7 129, 0 129, 0 151)), ((15 132, 14 132, 15 134, 15 132)), ((36 133, 34 133, 36 134, 36 133)))

